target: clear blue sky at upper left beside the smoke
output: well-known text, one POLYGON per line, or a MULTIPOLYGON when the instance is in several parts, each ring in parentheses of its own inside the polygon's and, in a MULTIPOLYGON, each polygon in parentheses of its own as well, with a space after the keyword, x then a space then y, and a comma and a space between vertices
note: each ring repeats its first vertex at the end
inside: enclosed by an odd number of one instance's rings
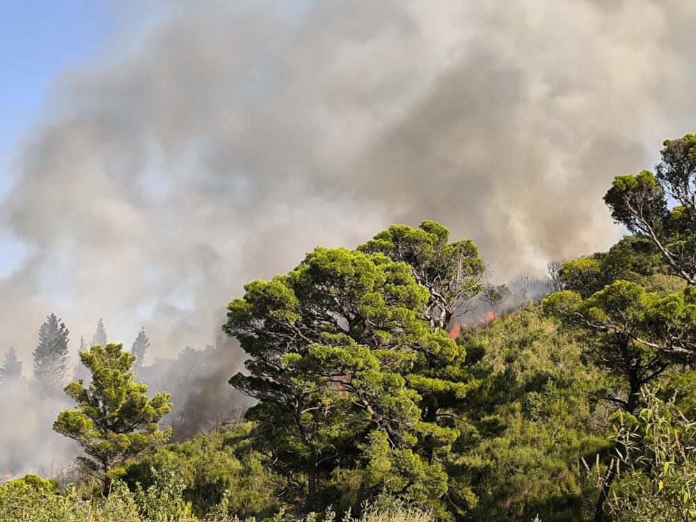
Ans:
MULTIPOLYGON (((95 60, 124 24, 148 18, 148 9, 137 3, 127 7, 128 2, 119 6, 113 0, 2 2, 0 198, 10 187, 10 163, 19 141, 40 120, 54 79, 95 60)), ((23 253, 24 248, 0 228, 0 278, 17 266, 23 253)))

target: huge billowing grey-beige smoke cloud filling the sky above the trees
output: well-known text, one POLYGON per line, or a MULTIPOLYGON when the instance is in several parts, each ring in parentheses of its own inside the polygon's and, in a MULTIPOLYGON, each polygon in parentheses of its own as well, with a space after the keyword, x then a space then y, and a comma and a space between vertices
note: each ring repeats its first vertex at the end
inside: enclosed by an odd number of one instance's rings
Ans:
POLYGON ((693 131, 695 24, 690 0, 177 3, 66 73, 19 151, 0 347, 29 367, 55 311, 174 356, 246 280, 394 222, 501 278, 606 248, 612 176, 693 131))

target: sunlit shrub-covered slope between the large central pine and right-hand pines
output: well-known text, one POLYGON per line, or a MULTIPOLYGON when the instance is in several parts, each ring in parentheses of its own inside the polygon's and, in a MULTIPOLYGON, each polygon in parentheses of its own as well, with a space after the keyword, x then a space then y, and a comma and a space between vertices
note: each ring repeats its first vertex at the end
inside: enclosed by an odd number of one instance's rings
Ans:
POLYGON ((578 466, 606 447, 608 411, 593 395, 606 377, 580 335, 526 306, 459 342, 477 354, 479 383, 454 448, 457 478, 477 498, 466 519, 583 520, 594 491, 578 466))

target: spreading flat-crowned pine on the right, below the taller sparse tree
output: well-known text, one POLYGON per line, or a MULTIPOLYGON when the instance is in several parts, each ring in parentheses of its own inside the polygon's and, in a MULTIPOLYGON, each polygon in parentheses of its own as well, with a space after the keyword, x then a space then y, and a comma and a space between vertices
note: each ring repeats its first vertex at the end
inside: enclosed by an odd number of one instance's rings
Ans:
MULTIPOLYGON (((648 383, 696 360, 696 287, 663 297, 618 280, 587 299, 564 290, 546 296, 542 305, 589 333, 590 356, 623 388, 621 395, 603 398, 619 404, 626 413, 633 414, 638 408, 648 383)), ((596 505, 596 522, 605 519, 604 504, 615 477, 617 470, 610 467, 596 505)))

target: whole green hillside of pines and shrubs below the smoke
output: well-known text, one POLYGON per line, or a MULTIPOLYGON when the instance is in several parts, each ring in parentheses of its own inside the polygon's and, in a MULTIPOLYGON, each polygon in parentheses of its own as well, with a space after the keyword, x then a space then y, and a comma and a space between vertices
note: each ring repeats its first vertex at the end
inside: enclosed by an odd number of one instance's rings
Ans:
POLYGON ((81 351, 54 422, 79 477, 8 480, 0 520, 695 521, 696 136, 661 155, 606 193, 630 235, 551 263, 543 299, 506 306, 434 221, 251 281, 222 325, 251 406, 188 440, 136 350, 81 351), (450 335, 474 306, 505 312, 450 335))

